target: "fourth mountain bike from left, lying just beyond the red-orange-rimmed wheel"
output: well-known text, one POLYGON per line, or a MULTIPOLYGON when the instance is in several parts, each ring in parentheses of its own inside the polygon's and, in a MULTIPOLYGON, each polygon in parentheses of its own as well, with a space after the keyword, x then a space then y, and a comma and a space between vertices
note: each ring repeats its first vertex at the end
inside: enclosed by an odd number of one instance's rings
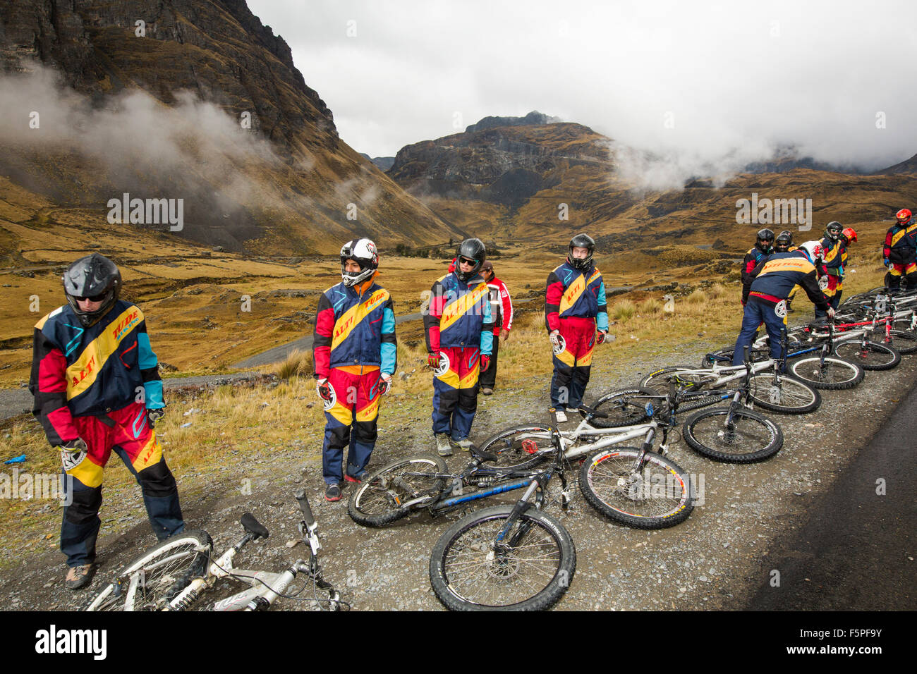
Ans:
MULTIPOLYGON (((727 407, 702 409, 691 414, 682 425, 682 436, 689 447, 715 461, 752 463, 777 454, 783 447, 783 431, 765 416, 752 412, 750 381, 752 363, 746 347, 746 376, 735 388, 716 391, 682 389, 674 394, 676 407, 666 409, 667 398, 653 389, 632 387, 602 395, 594 403, 608 416, 596 418, 593 425, 613 426, 622 419, 642 421, 647 402, 660 406, 658 414, 679 414, 728 401, 727 407)), ((672 381, 669 386, 676 386, 672 381)))

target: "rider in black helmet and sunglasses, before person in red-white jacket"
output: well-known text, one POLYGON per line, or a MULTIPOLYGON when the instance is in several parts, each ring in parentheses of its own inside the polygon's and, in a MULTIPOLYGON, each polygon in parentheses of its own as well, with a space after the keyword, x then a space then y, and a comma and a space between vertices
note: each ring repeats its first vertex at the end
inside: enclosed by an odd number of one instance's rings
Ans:
POLYGON ((436 279, 424 316, 427 363, 433 369, 433 435, 440 456, 450 442, 471 447, 478 411, 478 376, 490 366, 493 320, 487 283, 481 277, 486 249, 479 238, 458 246, 454 268, 436 279))

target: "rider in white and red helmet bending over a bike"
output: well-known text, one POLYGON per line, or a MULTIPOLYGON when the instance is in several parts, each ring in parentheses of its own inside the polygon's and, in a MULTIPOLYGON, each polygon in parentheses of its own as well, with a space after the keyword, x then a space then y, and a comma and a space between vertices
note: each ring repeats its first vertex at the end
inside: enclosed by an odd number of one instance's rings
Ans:
POLYGON ((801 286, 816 309, 829 318, 834 308, 819 288, 815 265, 823 255, 822 244, 806 241, 800 249, 787 253, 774 253, 751 271, 752 282, 748 294, 742 329, 735 340, 733 365, 741 365, 746 346, 751 345, 757 326, 764 322, 770 337, 770 356, 779 359, 780 331, 787 323, 787 297, 794 286, 801 286))

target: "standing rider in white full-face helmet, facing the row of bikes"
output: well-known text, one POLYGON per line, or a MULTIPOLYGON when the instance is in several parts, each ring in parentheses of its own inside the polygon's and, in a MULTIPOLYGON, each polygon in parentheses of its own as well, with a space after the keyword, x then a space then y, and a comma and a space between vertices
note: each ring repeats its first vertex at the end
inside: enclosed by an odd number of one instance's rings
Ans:
POLYGON ((369 238, 348 241, 340 259, 341 282, 318 300, 313 340, 317 391, 325 405, 322 478, 327 501, 340 500, 342 480, 365 479, 378 436, 381 396, 398 366, 394 303, 375 283, 376 244, 369 238))

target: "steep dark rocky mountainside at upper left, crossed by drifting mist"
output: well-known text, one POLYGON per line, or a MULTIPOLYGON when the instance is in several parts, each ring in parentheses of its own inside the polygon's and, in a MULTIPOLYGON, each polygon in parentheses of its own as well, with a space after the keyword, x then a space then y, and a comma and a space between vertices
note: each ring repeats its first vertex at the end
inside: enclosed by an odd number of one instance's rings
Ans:
MULTIPOLYGON (((5 0, 0 68, 28 78, 37 64, 59 73, 62 97, 81 94, 96 111, 125 107, 131 92, 180 112, 205 101, 248 137, 269 141, 254 154, 205 152, 186 132, 170 138, 184 154, 166 162, 168 171, 142 147, 127 170, 112 167, 80 144, 79 128, 72 147, 57 150, 26 137, 0 142, 0 170, 61 203, 100 208, 131 191, 182 196, 189 202, 182 236, 261 252, 330 252, 356 234, 412 244, 458 235, 337 137, 289 46, 244 0, 5 0), (236 189, 240 183, 247 189, 236 189)), ((137 121, 113 118, 121 126, 137 121)), ((202 136, 210 130, 201 128, 202 136)), ((250 138, 226 143, 242 147, 250 138)), ((158 141, 150 128, 138 146, 158 141)))

